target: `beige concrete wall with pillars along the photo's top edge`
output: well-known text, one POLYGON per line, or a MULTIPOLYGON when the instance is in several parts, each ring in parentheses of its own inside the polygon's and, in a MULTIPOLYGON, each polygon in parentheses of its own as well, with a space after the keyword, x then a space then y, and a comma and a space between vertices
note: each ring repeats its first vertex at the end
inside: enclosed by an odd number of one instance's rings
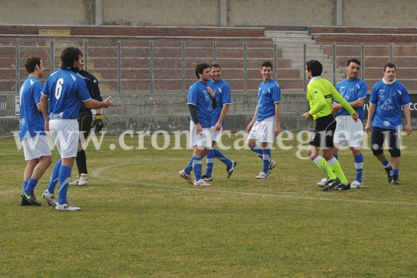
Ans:
POLYGON ((100 18, 133 26, 417 28, 415 0, 0 0, 0 7, 1 25, 95 25, 100 18))

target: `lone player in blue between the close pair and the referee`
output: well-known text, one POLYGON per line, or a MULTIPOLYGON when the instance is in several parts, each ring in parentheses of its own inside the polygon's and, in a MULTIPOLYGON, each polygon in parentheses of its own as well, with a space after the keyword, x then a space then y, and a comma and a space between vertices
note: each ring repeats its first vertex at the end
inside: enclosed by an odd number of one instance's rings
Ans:
POLYGON ((263 82, 258 87, 258 104, 252 121, 246 127, 249 133, 246 144, 262 159, 262 171, 256 179, 267 179, 277 162, 271 160, 271 147, 275 136, 281 132, 281 89, 272 79, 273 66, 265 61, 260 68, 263 82), (261 146, 256 144, 260 141, 261 146))

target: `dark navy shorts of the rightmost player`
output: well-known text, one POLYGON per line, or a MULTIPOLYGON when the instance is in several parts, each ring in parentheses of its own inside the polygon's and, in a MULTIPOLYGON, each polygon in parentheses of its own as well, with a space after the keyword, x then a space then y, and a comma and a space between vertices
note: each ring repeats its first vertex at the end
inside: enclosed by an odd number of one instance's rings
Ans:
POLYGON ((391 157, 401 157, 401 130, 372 127, 370 137, 370 149, 373 155, 382 155, 384 153, 384 141, 388 141, 388 151, 391 157))

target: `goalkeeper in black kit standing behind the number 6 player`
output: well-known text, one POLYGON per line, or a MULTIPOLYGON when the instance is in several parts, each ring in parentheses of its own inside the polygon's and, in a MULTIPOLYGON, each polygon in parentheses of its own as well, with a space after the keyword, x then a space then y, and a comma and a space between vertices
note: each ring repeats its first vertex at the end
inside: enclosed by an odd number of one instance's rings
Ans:
MULTIPOLYGON (((83 76, 85 85, 90 92, 92 99, 99 102, 103 100, 99 90, 99 82, 94 75, 88 71, 84 71, 84 57, 81 59, 80 71, 78 73, 83 76)), ((78 152, 75 161, 78 167, 78 178, 70 183, 70 186, 86 186, 88 183, 88 171, 87 171, 87 157, 85 156, 85 150, 83 150, 82 143, 90 135, 91 128, 95 128, 95 132, 98 133, 103 128, 102 109, 96 109, 95 120, 92 121, 92 111, 81 104, 80 106, 80 119, 78 119, 78 126, 80 130, 80 141, 78 142, 78 152)))

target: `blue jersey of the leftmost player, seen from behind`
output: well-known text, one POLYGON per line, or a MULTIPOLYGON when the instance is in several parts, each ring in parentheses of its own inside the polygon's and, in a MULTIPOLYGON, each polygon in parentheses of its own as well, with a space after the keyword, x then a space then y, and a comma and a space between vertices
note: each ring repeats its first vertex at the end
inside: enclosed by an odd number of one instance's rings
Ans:
POLYGON ((25 140, 39 134, 47 134, 44 131, 44 117, 42 116, 42 112, 37 109, 37 104, 40 104, 41 91, 42 83, 33 76, 26 78, 22 87, 20 87, 20 140, 25 140))

